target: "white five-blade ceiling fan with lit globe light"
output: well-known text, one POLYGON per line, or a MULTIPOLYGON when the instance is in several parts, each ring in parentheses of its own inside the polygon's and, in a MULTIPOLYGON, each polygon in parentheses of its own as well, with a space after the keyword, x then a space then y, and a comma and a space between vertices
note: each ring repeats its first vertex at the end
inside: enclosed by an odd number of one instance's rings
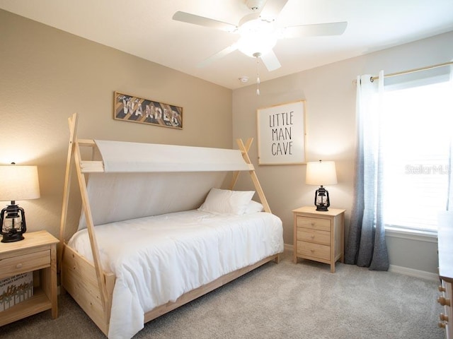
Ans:
POLYGON ((252 13, 241 18, 238 25, 181 11, 174 13, 173 20, 231 33, 239 33, 240 37, 237 42, 208 57, 197 66, 206 66, 212 61, 239 49, 239 51, 248 55, 248 57, 260 58, 268 71, 274 71, 281 67, 280 61, 278 61, 277 56, 273 52, 273 47, 277 43, 277 40, 288 37, 341 35, 348 26, 347 22, 340 22, 277 27, 275 19, 283 7, 285 7, 287 1, 246 0, 246 6, 252 13))

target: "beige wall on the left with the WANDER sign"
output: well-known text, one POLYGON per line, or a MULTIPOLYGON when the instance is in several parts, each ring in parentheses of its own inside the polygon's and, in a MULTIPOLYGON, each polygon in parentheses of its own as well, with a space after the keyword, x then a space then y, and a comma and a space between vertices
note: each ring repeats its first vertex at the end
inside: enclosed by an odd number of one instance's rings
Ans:
POLYGON ((0 32, 0 164, 38 165, 29 231, 59 235, 74 112, 81 138, 231 147, 229 89, 1 10, 0 32), (113 120, 115 90, 183 107, 183 130, 113 120))

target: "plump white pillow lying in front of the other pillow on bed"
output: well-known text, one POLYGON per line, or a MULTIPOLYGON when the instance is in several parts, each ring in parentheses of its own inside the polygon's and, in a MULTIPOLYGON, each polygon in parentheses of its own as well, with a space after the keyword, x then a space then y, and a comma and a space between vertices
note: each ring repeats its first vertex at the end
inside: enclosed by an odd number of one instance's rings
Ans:
POLYGON ((243 215, 253 194, 255 194, 255 191, 230 191, 212 188, 198 210, 214 214, 243 215))

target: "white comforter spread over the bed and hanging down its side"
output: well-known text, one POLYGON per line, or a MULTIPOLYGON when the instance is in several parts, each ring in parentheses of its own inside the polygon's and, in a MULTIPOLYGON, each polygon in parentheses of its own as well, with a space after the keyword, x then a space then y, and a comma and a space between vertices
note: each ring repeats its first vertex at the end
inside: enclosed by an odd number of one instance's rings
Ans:
MULTIPOLYGON (((127 203, 127 201, 125 201, 127 203)), ((95 227, 103 269, 115 273, 108 338, 131 338, 144 312, 219 276, 283 251, 282 222, 270 213, 190 210, 95 227)), ((93 262, 86 230, 69 246, 93 262)))

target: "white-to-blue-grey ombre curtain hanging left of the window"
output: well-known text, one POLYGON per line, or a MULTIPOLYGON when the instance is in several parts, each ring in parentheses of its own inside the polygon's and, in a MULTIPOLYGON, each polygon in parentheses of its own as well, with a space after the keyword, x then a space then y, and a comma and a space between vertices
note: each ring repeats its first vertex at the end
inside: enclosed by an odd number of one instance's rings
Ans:
POLYGON ((379 136, 380 109, 384 72, 379 80, 357 77, 357 150, 355 160, 354 200, 345 247, 345 263, 388 270, 389 256, 382 219, 382 185, 384 177, 379 136))

